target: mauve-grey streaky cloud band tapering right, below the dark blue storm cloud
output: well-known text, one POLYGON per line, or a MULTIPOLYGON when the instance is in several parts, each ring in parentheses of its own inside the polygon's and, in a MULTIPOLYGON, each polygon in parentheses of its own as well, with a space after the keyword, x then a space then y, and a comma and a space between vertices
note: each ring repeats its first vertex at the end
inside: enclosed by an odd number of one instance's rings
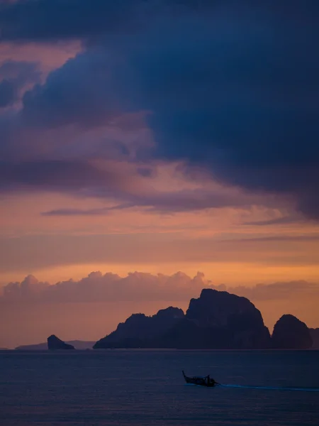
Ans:
MULTIPOLYGON (((108 202, 105 207, 74 209, 60 207, 43 212, 43 216, 97 216, 123 209, 141 207, 153 213, 198 212, 206 209, 252 205, 275 206, 286 200, 254 195, 225 187, 199 175, 189 182, 179 165, 171 165, 171 187, 161 187, 167 165, 147 166, 125 160, 30 160, 0 162, 0 193, 62 192, 77 197, 108 202), (142 173, 141 173, 142 170, 142 173), (109 205, 111 201, 112 205, 109 205)), ((167 173, 167 172, 166 172, 167 173)))

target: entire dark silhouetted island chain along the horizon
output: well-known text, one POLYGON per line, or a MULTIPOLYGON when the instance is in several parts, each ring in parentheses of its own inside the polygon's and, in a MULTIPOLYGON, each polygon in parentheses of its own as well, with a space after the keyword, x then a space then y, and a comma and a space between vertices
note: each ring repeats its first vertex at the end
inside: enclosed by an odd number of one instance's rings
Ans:
POLYGON ((191 299, 186 313, 167 307, 147 317, 138 313, 118 324, 98 342, 47 343, 17 350, 69 349, 319 349, 319 329, 308 329, 293 315, 283 315, 272 335, 262 314, 246 297, 204 288, 191 299))

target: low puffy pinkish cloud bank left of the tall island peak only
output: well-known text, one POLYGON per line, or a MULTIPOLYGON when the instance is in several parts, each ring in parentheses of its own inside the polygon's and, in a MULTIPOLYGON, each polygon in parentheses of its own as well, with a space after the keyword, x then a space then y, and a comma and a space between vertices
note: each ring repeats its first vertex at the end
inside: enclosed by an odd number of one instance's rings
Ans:
POLYGON ((47 285, 32 275, 21 283, 9 283, 3 289, 2 301, 42 302, 132 302, 189 300, 205 286, 202 273, 190 278, 184 273, 152 275, 129 273, 121 278, 113 273, 91 272, 86 278, 47 285))

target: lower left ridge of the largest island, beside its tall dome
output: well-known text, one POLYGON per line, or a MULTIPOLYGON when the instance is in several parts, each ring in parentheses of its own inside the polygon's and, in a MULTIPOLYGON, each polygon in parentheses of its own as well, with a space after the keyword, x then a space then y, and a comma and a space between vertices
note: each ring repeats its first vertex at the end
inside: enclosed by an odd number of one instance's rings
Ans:
POLYGON ((96 342, 93 347, 94 349, 154 347, 159 337, 183 317, 184 312, 178 307, 159 310, 152 317, 133 314, 125 322, 118 324, 114 332, 96 342))

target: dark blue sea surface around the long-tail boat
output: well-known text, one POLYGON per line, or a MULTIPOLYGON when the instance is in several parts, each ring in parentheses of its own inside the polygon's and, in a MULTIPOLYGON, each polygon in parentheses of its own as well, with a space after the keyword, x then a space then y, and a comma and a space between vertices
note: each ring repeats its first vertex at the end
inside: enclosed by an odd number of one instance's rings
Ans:
POLYGON ((2 351, 0 425, 318 426, 319 351, 2 351))

